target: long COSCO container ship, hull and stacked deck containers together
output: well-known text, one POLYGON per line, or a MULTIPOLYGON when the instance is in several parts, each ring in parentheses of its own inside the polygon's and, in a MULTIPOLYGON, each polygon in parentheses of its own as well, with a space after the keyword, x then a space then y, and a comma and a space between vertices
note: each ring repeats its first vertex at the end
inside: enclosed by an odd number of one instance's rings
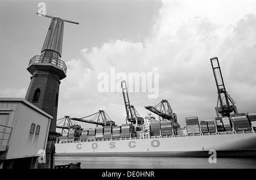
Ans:
MULTIPOLYGON (((154 118, 151 118, 154 119, 154 118)), ((256 157, 256 113, 199 122, 186 118, 185 128, 172 121, 151 121, 63 132, 56 156, 217 156, 256 157)))

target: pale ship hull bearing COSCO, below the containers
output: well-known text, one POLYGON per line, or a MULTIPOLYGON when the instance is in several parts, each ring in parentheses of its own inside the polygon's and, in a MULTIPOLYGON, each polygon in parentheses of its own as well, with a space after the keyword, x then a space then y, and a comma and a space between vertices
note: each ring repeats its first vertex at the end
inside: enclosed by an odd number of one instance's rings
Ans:
POLYGON ((56 156, 256 157, 256 134, 201 135, 55 144, 56 156))

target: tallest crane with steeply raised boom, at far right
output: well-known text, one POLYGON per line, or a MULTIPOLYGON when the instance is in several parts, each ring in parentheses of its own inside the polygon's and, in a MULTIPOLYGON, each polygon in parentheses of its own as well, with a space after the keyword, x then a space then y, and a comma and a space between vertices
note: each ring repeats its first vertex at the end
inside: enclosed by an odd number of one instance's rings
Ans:
POLYGON ((212 64, 212 70, 214 74, 214 79, 217 85, 217 92, 218 92, 218 100, 217 100, 217 107, 215 108, 217 117, 227 116, 229 117, 230 113, 234 112, 237 114, 237 107, 234 100, 230 97, 228 92, 226 92, 226 88, 224 85, 224 81, 222 78, 222 73, 220 69, 220 63, 218 63, 218 58, 213 57, 210 58, 210 62, 212 64))

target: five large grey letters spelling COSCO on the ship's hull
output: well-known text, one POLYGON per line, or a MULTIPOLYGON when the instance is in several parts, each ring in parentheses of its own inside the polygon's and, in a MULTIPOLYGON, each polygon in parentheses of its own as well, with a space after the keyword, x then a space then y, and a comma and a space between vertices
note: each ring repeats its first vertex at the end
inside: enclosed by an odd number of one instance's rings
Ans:
MULTIPOLYGON (((131 149, 137 147, 137 144, 134 140, 129 141, 127 144, 128 144, 128 147, 131 149)), ((158 148, 160 146, 160 142, 159 142, 159 140, 152 140, 149 145, 151 145, 151 147, 153 147, 153 148, 158 148)), ((98 146, 99 146, 98 143, 92 143, 91 148, 97 149, 98 146)), ((76 149, 81 149, 81 148, 82 148, 81 143, 76 145, 76 149)), ((117 148, 117 144, 115 144, 115 142, 110 142, 109 148, 110 149, 117 148)))

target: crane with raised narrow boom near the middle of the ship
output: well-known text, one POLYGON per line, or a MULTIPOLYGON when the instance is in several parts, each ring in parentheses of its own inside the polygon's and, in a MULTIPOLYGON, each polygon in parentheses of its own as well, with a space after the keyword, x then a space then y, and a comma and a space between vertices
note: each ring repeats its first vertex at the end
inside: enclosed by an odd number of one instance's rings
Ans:
POLYGON ((121 87, 123 92, 123 100, 125 101, 125 110, 126 110, 126 119, 125 121, 129 121, 133 124, 137 124, 137 126, 142 126, 144 123, 144 118, 142 118, 135 107, 130 104, 127 86, 125 80, 121 81, 121 87))

